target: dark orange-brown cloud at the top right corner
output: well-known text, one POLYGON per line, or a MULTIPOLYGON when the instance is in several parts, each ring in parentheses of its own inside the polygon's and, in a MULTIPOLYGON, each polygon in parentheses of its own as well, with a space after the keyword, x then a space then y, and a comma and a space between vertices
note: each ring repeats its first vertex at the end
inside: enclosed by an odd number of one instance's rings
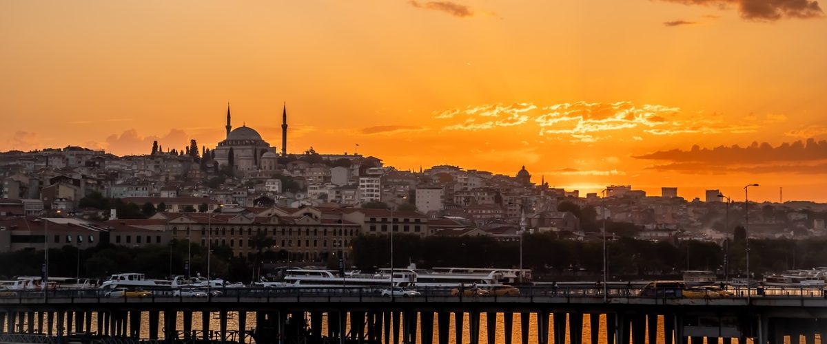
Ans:
POLYGON ((685 5, 707 5, 721 8, 738 7, 744 19, 777 21, 782 18, 814 18, 823 16, 815 0, 661 0, 685 5))

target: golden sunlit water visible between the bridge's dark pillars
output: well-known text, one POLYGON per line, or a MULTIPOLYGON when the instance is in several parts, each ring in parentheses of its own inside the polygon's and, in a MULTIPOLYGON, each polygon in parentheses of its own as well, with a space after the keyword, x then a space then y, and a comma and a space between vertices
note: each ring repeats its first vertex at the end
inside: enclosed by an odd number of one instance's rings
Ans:
MULTIPOLYGON (((217 315, 217 314, 218 313, 213 313, 213 315, 217 315)), ((231 331, 232 330, 238 330, 239 329, 238 328, 238 313, 237 312, 229 312, 227 314, 228 314, 227 329, 231 330, 231 331)), ((549 330, 548 330, 549 339, 548 339, 548 342, 550 342, 550 343, 553 342, 553 338, 554 338, 554 328, 552 326, 553 317, 554 316, 552 314, 550 316, 550 319, 549 319, 549 330)), ((176 329, 178 331, 183 331, 184 330, 184 320, 183 320, 183 318, 184 318, 183 313, 179 312, 178 316, 177 316, 178 321, 177 321, 177 325, 176 325, 176 329)), ((438 315, 434 316, 433 343, 435 343, 435 344, 437 344, 439 342, 439 328, 437 326, 437 318, 438 318, 438 315)), ((463 333, 462 342, 464 342, 464 343, 468 343, 471 340, 471 331, 470 331, 469 323, 468 323, 469 318, 470 318, 470 315, 468 313, 466 313, 465 314, 465 322, 463 323, 463 327, 462 327, 462 333, 463 333)), ((24 319, 24 320, 27 321, 27 319, 24 319)), ((160 337, 163 337, 164 313, 160 313, 160 319, 159 320, 160 320, 159 321, 159 323, 160 323, 160 325, 159 325, 160 334, 159 335, 160 335, 160 337)), ((192 329, 200 332, 200 330, 202 328, 201 325, 203 323, 203 320, 204 319, 202 317, 201 312, 194 312, 193 313, 193 321, 192 321, 192 329)), ((45 323, 45 321, 46 320, 45 320, 45 317, 44 317, 44 323, 45 323)), ((211 330, 217 331, 220 328, 220 323, 219 323, 218 318, 209 318, 208 321, 210 322, 210 329, 211 330)), ((512 340, 515 344, 518 344, 518 343, 519 344, 525 344, 525 343, 521 342, 521 338, 522 338, 522 332, 521 331, 522 330, 521 330, 521 327, 519 326, 521 321, 522 321, 522 319, 520 317, 520 314, 519 313, 514 313, 514 328, 513 328, 513 331, 512 331, 512 336, 513 336, 512 340)), ((537 314, 536 313, 531 313, 530 318, 528 319, 528 321, 530 322, 530 325, 528 327, 528 344, 537 343, 538 342, 537 314)), ((35 322, 37 322, 37 318, 35 318, 35 322)), ((600 316, 600 334, 599 334, 600 339, 596 344, 605 344, 606 343, 606 326, 605 326, 605 322, 606 322, 605 315, 601 315, 600 316)), ((56 321, 55 321, 55 323, 56 323, 56 321)), ((308 323, 309 323, 309 319, 308 319, 308 323)), ((97 313, 93 313, 93 315, 92 315, 92 330, 93 330, 93 332, 97 331, 97 324, 98 324, 97 313)), ((454 334, 455 334, 455 332, 454 332, 455 326, 454 325, 455 325, 454 315, 451 314, 450 328, 449 328, 449 335, 448 335, 449 342, 451 344, 457 344, 456 337, 454 336, 454 334)), ((55 327, 56 327, 56 325, 55 325, 55 327)), ((53 331, 56 331, 55 327, 53 327, 53 331)), ((73 319, 73 327, 74 327, 74 319, 73 319)), ((128 327, 128 322, 127 322, 127 327, 128 327)), ((256 313, 255 312, 248 312, 247 317, 246 317, 246 329, 251 330, 255 327, 256 327, 256 313)), ((347 327, 348 328, 350 327, 350 322, 347 322, 347 327)), ((26 324, 24 324, 23 328, 26 328, 26 324)), ((418 327, 418 328, 420 328, 420 327, 418 327)), ((2 329, 3 332, 7 332, 7 323, 5 323, 5 322, 2 323, 2 325, 0 325, 0 329, 2 329)), ((566 329, 568 330, 568 324, 567 323, 566 323, 566 329)), ((591 342, 591 327, 590 327, 590 317, 589 316, 584 316, 583 317, 583 328, 581 330, 582 330, 582 341, 583 341, 583 343, 584 344, 594 344, 594 343, 591 342)), ((323 334, 327 333, 327 316, 323 317, 322 333, 323 334)), ((568 336, 568 333, 570 333, 570 331, 566 331, 566 343, 571 343, 571 339, 568 336)), ((399 335, 400 335, 400 337, 402 336, 401 331, 400 331, 399 335)), ((381 334, 381 336, 383 336, 383 338, 384 338, 384 331, 381 334)), ((144 312, 144 313, 141 314, 141 337, 142 338, 148 338, 149 337, 149 313, 148 312, 144 312)), ((479 337, 480 337, 480 344, 507 344, 505 342, 503 314, 502 313, 497 314, 497 330, 496 330, 496 335, 495 335, 495 341, 493 343, 489 343, 486 314, 481 313, 480 314, 480 336, 479 337)), ((803 338, 801 338, 801 339, 802 339, 802 342, 803 342, 803 338)), ((251 337, 247 337, 246 340, 248 342, 253 342, 251 337)), ((657 343, 664 343, 664 342, 665 341, 664 341, 664 332, 663 332, 663 317, 659 316, 659 317, 657 317, 657 343)), ((733 339, 732 342, 734 344, 740 344, 737 339, 733 339)), ((748 340, 747 342, 748 342, 747 344, 752 344, 753 341, 748 340)), ((791 344, 791 341, 790 341, 789 337, 785 337, 784 342, 786 344, 791 344)), ((815 343, 820 344, 820 342, 821 342, 820 337, 817 336, 815 338, 815 343)), ((417 333, 417 344, 421 344, 421 343, 422 343, 422 338, 420 336, 420 333, 418 332, 417 333)), ((657 344, 657 343, 649 343, 649 341, 647 340, 645 344, 657 344)), ((721 344, 721 343, 723 343, 723 341, 719 341, 719 344, 721 344)), ((462 343, 460 343, 460 344, 462 344, 462 343)), ((700 343, 695 343, 695 344, 700 344, 700 343)))

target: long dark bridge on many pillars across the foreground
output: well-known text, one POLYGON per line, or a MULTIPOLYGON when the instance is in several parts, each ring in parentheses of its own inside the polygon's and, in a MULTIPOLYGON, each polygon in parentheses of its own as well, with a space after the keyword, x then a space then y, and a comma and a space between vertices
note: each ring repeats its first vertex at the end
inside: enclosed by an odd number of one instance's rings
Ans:
POLYGON ((686 344, 690 339, 693 344, 717 343, 718 338, 724 344, 732 338, 767 344, 782 343, 785 337, 792 344, 811 344, 827 333, 824 288, 759 288, 749 295, 736 288, 729 297, 686 297, 675 290, 649 290, 649 296, 640 296, 638 289, 618 285, 605 290, 525 286, 519 295, 485 296, 441 288, 393 297, 376 288, 345 287, 227 288, 208 290, 207 297, 151 291, 143 297, 112 297, 103 290, 7 292, 0 296, 0 343, 284 343, 300 338, 297 342, 308 344, 434 344, 436 332, 437 344, 478 344, 482 318, 483 335, 495 342, 498 314, 505 344, 518 339, 515 325, 523 344, 528 344, 533 328, 537 344, 565 344, 566 337, 571 344, 584 339, 607 344, 643 344, 648 339, 654 344, 659 320, 663 344, 686 344), (194 313, 218 319, 218 328, 203 321, 194 329, 194 313), (227 326, 231 314, 237 316, 237 328, 227 326), (589 338, 583 337, 585 319, 589 338), (469 338, 463 338, 465 326, 469 338), (141 337, 145 332, 148 336, 141 337), (600 337, 601 332, 606 337, 600 337))

